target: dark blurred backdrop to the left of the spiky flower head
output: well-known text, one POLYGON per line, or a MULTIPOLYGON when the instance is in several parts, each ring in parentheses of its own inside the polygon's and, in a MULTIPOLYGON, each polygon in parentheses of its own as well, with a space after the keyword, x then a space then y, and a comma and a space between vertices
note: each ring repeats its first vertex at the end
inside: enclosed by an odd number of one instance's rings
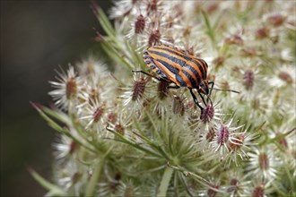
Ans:
MULTIPOLYGON (((109 10, 110 1, 97 1, 109 10)), ((48 106, 60 64, 74 64, 93 52, 99 22, 90 2, 0 1, 1 47, 1 196, 42 196, 46 191, 26 170, 50 179, 52 142, 49 128, 30 101, 48 106)))

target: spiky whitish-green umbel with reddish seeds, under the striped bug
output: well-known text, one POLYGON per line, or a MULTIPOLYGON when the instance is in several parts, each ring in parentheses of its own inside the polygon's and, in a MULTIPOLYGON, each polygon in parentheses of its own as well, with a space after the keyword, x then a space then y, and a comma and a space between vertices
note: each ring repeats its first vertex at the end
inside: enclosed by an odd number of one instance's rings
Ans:
POLYGON ((61 69, 55 106, 32 103, 59 133, 53 180, 32 176, 48 196, 295 195, 293 3, 92 1, 107 61, 61 69))

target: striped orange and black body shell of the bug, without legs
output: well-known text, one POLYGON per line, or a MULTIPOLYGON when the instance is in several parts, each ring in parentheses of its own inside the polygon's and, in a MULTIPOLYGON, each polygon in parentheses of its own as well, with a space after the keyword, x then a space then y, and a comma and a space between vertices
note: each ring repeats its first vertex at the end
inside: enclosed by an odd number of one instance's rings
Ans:
POLYGON ((153 46, 144 52, 144 61, 152 72, 161 74, 178 86, 198 88, 206 79, 207 64, 182 50, 168 46, 153 46))

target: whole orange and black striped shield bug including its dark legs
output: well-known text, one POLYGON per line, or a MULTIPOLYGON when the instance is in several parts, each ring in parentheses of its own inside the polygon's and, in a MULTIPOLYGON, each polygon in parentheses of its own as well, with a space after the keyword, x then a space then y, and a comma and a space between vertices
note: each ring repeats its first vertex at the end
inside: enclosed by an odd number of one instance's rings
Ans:
POLYGON ((207 101, 211 101, 213 81, 206 80, 208 65, 205 60, 188 55, 184 50, 165 45, 149 47, 144 51, 143 58, 144 63, 158 76, 152 76, 144 71, 133 71, 134 73, 145 73, 159 81, 167 81, 176 85, 169 86, 169 88, 187 87, 197 107, 202 111, 204 108, 199 104, 192 90, 197 90, 205 106, 203 95, 207 97, 207 101))

